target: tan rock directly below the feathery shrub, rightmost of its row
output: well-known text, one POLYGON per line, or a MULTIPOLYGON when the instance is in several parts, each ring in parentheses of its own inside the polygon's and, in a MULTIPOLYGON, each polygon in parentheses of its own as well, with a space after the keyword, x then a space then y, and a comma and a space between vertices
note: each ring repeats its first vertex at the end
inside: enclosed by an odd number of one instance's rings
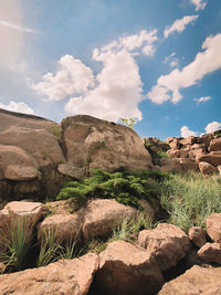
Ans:
POLYGON ((97 199, 84 209, 83 235, 86 240, 108 236, 126 217, 131 217, 136 209, 115 200, 97 199))

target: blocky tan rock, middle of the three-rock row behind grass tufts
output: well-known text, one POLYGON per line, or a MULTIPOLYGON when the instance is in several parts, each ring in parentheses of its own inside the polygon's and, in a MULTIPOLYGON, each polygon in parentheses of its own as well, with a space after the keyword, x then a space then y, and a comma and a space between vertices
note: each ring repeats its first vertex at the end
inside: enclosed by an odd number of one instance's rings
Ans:
POLYGON ((72 242, 81 239, 81 217, 74 214, 53 214, 45 218, 38 226, 38 240, 52 233, 56 242, 72 242))

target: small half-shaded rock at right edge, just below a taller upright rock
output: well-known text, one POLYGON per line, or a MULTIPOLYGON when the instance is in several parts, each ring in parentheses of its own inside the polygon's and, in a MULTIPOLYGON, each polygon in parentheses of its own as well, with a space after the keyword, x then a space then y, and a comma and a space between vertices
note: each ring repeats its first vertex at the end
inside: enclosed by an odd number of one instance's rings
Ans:
POLYGON ((198 255, 204 262, 221 264, 221 244, 207 243, 198 251, 198 255))

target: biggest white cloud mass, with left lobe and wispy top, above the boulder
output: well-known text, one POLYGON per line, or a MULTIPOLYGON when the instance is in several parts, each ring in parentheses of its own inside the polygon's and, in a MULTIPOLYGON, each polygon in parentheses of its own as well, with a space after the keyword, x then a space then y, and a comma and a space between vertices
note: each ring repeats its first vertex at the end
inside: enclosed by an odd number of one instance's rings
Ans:
POLYGON ((141 119, 138 104, 143 99, 143 83, 136 56, 152 56, 157 30, 143 30, 119 38, 93 51, 93 59, 103 64, 94 77, 90 67, 72 55, 64 55, 55 74, 48 73, 43 81, 32 85, 51 101, 70 98, 67 114, 87 114, 117 122, 120 117, 141 119))

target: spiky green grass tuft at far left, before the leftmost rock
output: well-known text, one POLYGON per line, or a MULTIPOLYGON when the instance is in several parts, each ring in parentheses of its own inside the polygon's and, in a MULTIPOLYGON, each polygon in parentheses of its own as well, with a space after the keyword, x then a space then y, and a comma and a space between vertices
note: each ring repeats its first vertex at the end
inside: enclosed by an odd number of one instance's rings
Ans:
POLYGON ((27 220, 13 219, 10 224, 9 235, 1 232, 1 238, 7 250, 0 252, 0 261, 15 271, 23 270, 32 242, 27 220))

